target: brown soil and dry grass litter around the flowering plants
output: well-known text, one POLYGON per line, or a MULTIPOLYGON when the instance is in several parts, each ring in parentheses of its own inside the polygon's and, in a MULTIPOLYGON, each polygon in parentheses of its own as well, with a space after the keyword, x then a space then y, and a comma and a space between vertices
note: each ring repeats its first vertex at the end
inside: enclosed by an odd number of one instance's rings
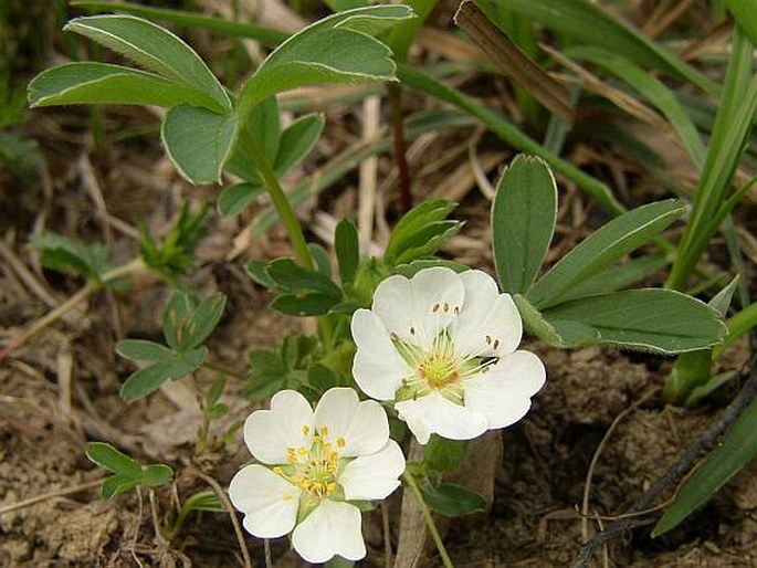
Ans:
MULTIPOLYGON (((418 105, 412 95, 408 101, 418 105)), ((313 173, 329 156, 357 144, 358 114, 348 107, 326 109, 324 139, 287 182, 313 173)), ((191 188, 178 177, 158 145, 156 117, 149 111, 114 107, 98 117, 108 140, 102 147, 90 130, 88 111, 35 111, 22 130, 46 159, 45 175, 23 180, 0 171, 3 340, 17 337, 84 285, 80 277, 42 270, 27 244, 31 234, 50 228, 71 238, 102 240, 109 243, 117 261, 125 261, 136 254, 140 223, 159 234, 185 198, 213 201, 219 194, 219 188, 191 188)), ((467 224, 445 246, 444 255, 492 272, 490 201, 475 188, 466 158, 472 141, 481 149, 479 164, 492 176, 512 157, 501 143, 482 138, 474 128, 418 140, 409 157, 417 198, 433 194, 461 203, 454 217, 467 224)), ((577 148, 571 158, 593 168, 592 173, 624 180, 631 206, 664 194, 638 170, 612 166, 613 157, 601 150, 577 148)), ((391 222, 396 213, 391 160, 381 158, 378 171, 379 179, 388 179, 379 198, 386 193, 381 206, 391 222)), ((558 239, 549 262, 607 220, 576 188, 558 181, 558 239)), ((328 246, 333 221, 355 217, 357 183, 357 176, 349 175, 302 209, 314 241, 328 246)), ((273 346, 302 325, 313 330, 312 322, 267 309, 271 297, 244 274, 250 259, 292 254, 280 228, 252 236, 250 223, 259 210, 255 206, 233 220, 214 215, 192 276, 199 290, 219 290, 229 296, 210 347, 217 361, 235 369, 245 368, 251 349, 273 346)), ((754 204, 747 203, 737 217, 747 233, 754 231, 754 204)), ((381 227, 376 232, 380 242, 381 227)), ((712 262, 718 262, 718 254, 719 245, 712 262)), ((194 446, 200 427, 197 386, 215 377, 202 371, 198 385, 170 383, 132 404, 118 397, 134 367, 115 355, 114 346, 126 337, 159 340, 166 296, 166 286, 153 276, 138 277, 126 294, 92 295, 0 361, 0 566, 242 565, 225 513, 192 514, 178 536, 168 540, 165 535, 179 504, 211 488, 208 476, 225 486, 249 457, 241 435, 221 451, 194 446), (133 492, 103 501, 95 484, 104 472, 84 455, 84 444, 91 440, 108 441, 144 462, 169 463, 177 472, 176 482, 153 495, 133 492), (40 498, 24 505, 35 497, 40 498)), ((535 341, 527 348, 543 357, 547 383, 525 420, 490 438, 485 455, 497 456, 493 466, 480 467, 476 460, 484 454, 473 452, 460 474, 463 481, 488 487, 491 507, 486 514, 443 523, 450 555, 459 567, 570 566, 581 543, 622 515, 721 416, 738 389, 732 385, 713 400, 683 410, 664 404, 660 393, 671 359, 610 348, 563 351, 535 341)), ((747 358, 747 346, 739 345, 723 366, 739 368, 747 358)), ((256 408, 234 383, 223 402, 230 413, 217 424, 215 433, 256 408)), ((753 462, 703 509, 661 538, 649 536, 660 515, 649 512, 642 517, 648 524, 600 547, 595 565, 757 566, 756 474, 753 462)), ((388 506, 395 548, 402 530, 409 530, 398 527, 400 502, 397 494, 388 506)), ((369 554, 360 565, 385 566, 378 511, 364 517, 364 530, 369 554)), ((254 566, 264 566, 262 541, 248 538, 246 545, 254 566)), ((286 539, 271 543, 271 555, 275 567, 302 565, 286 539)), ((420 566, 441 566, 432 548, 420 566)))

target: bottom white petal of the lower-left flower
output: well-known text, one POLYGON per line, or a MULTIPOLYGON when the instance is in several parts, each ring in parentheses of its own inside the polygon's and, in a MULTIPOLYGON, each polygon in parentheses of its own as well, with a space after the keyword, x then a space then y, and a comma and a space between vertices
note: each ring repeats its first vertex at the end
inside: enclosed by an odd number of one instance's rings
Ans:
POLYGON ((366 556, 360 511, 349 503, 323 499, 292 533, 292 545, 299 556, 313 564, 339 555, 347 560, 366 556))

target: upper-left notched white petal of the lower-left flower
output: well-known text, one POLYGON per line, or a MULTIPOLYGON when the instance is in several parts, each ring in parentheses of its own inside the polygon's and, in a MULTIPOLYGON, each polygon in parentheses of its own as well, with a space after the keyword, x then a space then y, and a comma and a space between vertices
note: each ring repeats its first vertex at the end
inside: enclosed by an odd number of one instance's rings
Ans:
POLYGON ((244 422, 244 442, 256 460, 286 463, 287 448, 309 449, 313 443, 309 402, 294 390, 276 392, 271 399, 271 410, 257 410, 244 422))

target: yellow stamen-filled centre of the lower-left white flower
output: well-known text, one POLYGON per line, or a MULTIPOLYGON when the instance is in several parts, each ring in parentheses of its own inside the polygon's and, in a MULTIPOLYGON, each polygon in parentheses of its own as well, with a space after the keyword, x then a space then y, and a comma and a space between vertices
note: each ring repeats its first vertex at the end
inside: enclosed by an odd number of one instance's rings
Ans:
MULTIPOLYGON (((303 433, 309 433, 309 427, 303 425, 303 433)), ((276 466, 273 472, 296 485, 308 494, 309 497, 320 499, 327 497, 337 488, 339 476, 339 449, 346 445, 341 436, 336 440, 336 448, 324 440, 328 435, 328 428, 323 425, 316 429, 313 435, 313 444, 305 446, 287 448, 287 465, 276 466)))

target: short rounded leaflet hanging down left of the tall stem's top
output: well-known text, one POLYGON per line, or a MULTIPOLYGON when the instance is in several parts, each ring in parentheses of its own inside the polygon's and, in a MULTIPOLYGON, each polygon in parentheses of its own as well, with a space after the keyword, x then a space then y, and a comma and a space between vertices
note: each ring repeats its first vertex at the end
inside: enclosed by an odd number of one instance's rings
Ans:
POLYGON ((179 105, 162 123, 160 137, 168 157, 194 185, 221 181, 221 171, 234 141, 236 117, 207 108, 179 105))

